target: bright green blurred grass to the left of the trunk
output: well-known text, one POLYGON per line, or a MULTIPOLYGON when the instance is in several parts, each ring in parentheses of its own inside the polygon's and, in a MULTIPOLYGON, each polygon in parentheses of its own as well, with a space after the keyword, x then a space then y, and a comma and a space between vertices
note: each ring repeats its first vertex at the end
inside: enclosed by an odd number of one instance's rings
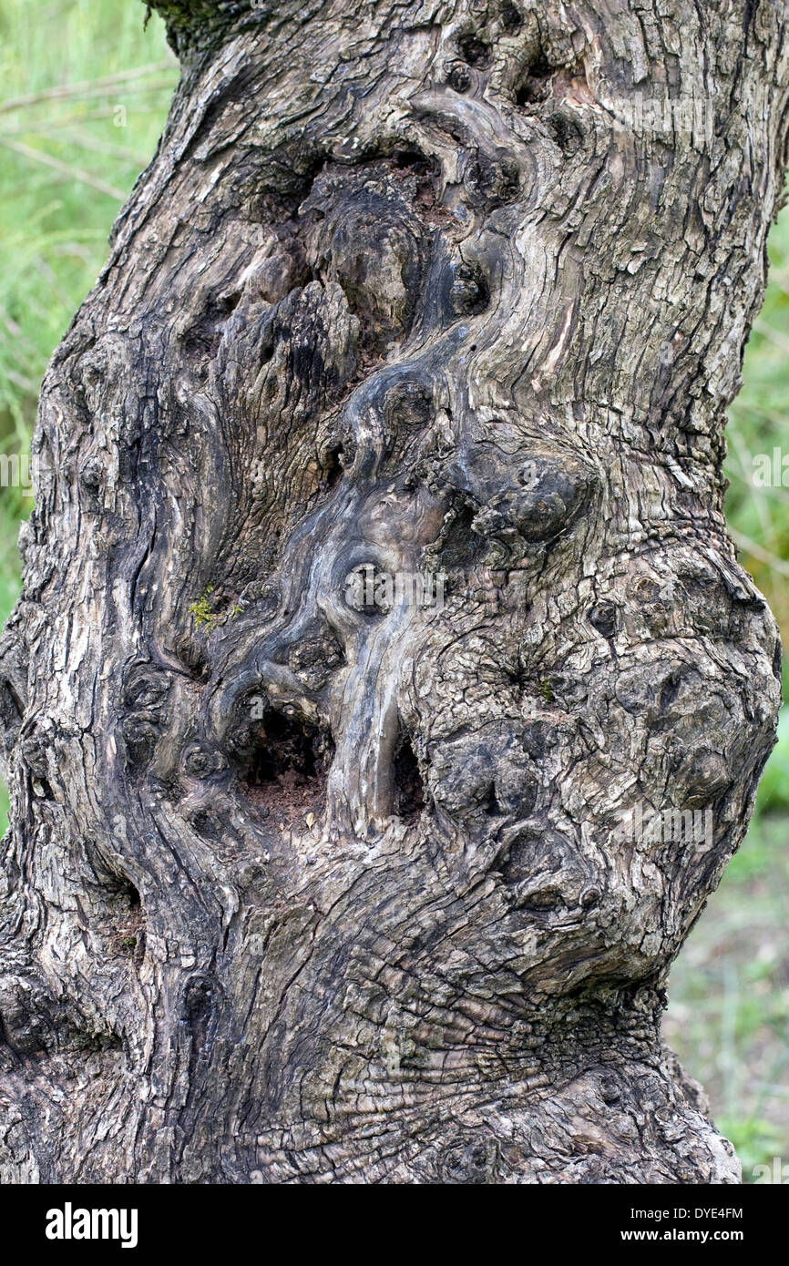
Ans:
MULTIPOLYGON (((0 0, 0 452, 27 453, 47 362, 106 258, 177 82, 142 4, 0 0)), ((0 487, 0 620, 33 500, 0 487)), ((8 795, 0 790, 0 829, 8 795)))

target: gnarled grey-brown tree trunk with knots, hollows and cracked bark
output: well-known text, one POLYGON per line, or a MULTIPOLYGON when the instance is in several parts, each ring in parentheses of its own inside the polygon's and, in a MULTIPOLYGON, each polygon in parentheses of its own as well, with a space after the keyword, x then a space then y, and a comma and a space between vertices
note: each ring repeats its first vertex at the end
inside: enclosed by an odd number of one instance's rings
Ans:
POLYGON ((784 4, 158 8, 3 642, 0 1175, 736 1182, 660 1014, 779 703, 784 4))

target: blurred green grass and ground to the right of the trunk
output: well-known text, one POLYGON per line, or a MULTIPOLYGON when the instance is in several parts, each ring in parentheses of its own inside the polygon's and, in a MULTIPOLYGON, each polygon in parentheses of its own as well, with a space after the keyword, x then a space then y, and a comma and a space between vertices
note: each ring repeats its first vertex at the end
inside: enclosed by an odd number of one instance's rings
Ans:
MULTIPOLYGON (((789 454, 789 206, 769 241, 770 284, 729 410, 726 500, 740 558, 789 642, 789 487, 754 486, 754 457, 789 454)), ((789 480, 789 472, 788 472, 789 480)), ((784 661, 784 698, 786 695, 784 661)), ((789 708, 748 834, 671 974, 669 1044, 709 1095, 743 1181, 789 1162, 789 708)))

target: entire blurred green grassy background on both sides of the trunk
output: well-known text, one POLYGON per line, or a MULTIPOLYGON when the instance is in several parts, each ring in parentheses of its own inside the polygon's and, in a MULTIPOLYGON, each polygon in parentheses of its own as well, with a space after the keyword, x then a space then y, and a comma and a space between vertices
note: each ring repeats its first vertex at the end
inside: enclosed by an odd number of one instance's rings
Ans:
MULTIPOLYGON (((158 18, 118 0, 0 0, 0 452, 24 453, 41 377, 153 154, 177 68, 158 18)), ((789 453, 789 208, 728 427, 728 515, 789 644, 789 487, 755 487, 752 458, 789 453)), ((789 479, 789 475, 788 475, 789 479)), ((19 592, 24 489, 0 489, 0 619, 19 592)), ((8 796, 1 789, 0 830, 8 796)), ((789 1162, 789 709, 748 837, 671 977, 665 1033, 707 1089, 752 1181, 789 1162)))

